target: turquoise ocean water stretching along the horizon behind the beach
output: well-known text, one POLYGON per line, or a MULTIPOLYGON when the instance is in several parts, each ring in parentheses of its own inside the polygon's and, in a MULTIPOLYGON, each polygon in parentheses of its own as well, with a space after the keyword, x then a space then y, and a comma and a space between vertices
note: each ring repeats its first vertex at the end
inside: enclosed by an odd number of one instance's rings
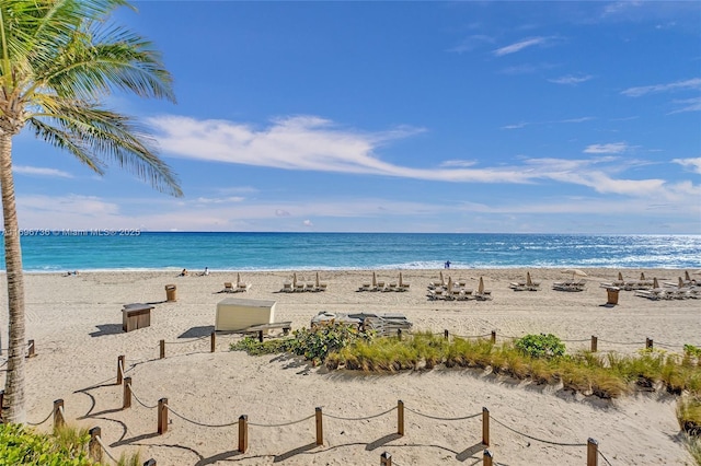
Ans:
POLYGON ((28 231, 22 251, 30 272, 435 269, 446 260, 458 269, 701 269, 701 235, 28 231))

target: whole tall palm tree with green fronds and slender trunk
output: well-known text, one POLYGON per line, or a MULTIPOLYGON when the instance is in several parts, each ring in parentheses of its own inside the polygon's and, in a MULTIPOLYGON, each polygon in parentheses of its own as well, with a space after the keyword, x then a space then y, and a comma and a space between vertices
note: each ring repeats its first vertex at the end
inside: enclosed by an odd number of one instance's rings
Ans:
POLYGON ((104 105, 112 92, 174 102, 160 55, 108 22, 124 0, 0 0, 0 184, 8 281, 9 422, 25 422, 24 281, 12 177, 12 139, 28 127, 102 174, 110 163, 182 196, 148 133, 104 105))

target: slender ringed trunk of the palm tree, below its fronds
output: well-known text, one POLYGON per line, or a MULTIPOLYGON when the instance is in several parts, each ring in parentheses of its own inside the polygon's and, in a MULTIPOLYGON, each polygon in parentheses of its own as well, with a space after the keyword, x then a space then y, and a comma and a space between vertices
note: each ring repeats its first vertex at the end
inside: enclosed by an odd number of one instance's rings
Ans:
POLYGON ((4 220, 4 261, 8 278, 9 351, 4 398, 8 403, 5 422, 24 423, 24 358, 26 353, 24 328, 24 277, 20 228, 14 201, 12 177, 12 136, 0 132, 0 185, 2 188, 2 217, 4 220))

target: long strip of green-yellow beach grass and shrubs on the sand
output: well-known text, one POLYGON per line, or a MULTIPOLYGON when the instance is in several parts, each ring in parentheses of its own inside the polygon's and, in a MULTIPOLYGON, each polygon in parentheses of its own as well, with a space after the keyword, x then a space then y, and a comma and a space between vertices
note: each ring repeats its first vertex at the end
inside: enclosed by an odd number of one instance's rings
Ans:
POLYGON ((398 337, 377 337, 354 326, 329 323, 299 329, 294 337, 258 342, 244 338, 232 350, 250 354, 290 352, 314 365, 363 372, 425 371, 440 365, 491 371, 536 384, 562 384, 562 388, 618 398, 633 391, 701 394, 698 357, 658 349, 637 354, 617 352, 565 352, 554 335, 527 336, 494 345, 486 338, 446 339, 428 331, 398 337), (528 337, 528 338, 527 338, 528 337))

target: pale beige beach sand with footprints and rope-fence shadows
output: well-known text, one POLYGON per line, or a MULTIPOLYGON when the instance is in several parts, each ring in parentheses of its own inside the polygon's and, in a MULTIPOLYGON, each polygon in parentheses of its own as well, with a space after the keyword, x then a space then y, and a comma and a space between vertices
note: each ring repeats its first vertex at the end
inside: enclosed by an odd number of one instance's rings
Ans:
MULTIPOLYGON (((231 352, 229 343, 240 338, 235 335, 218 335, 216 352, 209 351, 216 304, 234 296, 276 301, 276 321, 291 321, 292 328, 308 327, 320 311, 391 312, 405 314, 414 330, 447 329, 460 336, 495 330, 499 341, 552 333, 568 350, 588 348, 593 335, 599 351, 632 353, 644 347, 645 338, 676 352, 685 343, 701 345, 698 300, 655 302, 621 291, 619 304, 610 307, 604 305, 607 293, 599 282, 614 280, 618 270, 584 269, 587 289, 575 293, 551 289, 553 281, 568 278, 561 270, 530 270, 541 282, 538 292, 508 288, 525 279, 526 269, 445 271, 475 289, 484 277, 493 295, 485 302, 428 301, 426 286, 438 270, 404 270, 404 281, 411 283, 404 293, 356 292, 371 271, 355 270, 322 271, 329 287, 320 293, 280 293, 291 271, 242 272, 252 288, 239 294, 217 293, 225 281, 235 281, 235 272, 177 278, 176 272, 26 275, 26 337, 36 345, 36 357, 26 364, 27 420, 43 420, 54 400, 64 399, 69 422, 101 427, 112 455, 139 451, 142 462, 154 458, 159 465, 370 465, 379 464, 382 452, 402 466, 474 465, 483 455, 481 416, 452 419, 480 415, 486 407, 490 451, 499 464, 584 465, 582 445, 589 438, 613 465, 693 464, 679 434, 675 398, 664 393, 602 400, 472 370, 330 372, 298 358, 231 352), (176 286, 176 302, 163 302, 169 283, 176 286), (149 327, 122 331, 127 303, 157 303, 149 327), (165 359, 159 359, 161 339, 166 341, 165 359), (125 410, 124 388, 115 385, 120 354, 138 398, 125 410), (160 398, 168 398, 170 408, 162 435, 154 408, 160 398), (400 399, 405 406, 403 436, 395 434, 393 410, 400 399), (322 446, 314 444, 317 407, 324 415, 322 446), (241 415, 250 422, 244 454, 237 451, 241 415)), ((683 272, 644 271, 660 282, 676 282, 683 272)), ((633 279, 640 272, 624 276, 633 279)), ((298 272, 302 276, 313 281, 313 272, 298 272)), ((378 271, 384 281, 397 276, 378 271)), ((7 301, 4 283, 0 295, 7 301)), ((7 313, 0 316, 3 337, 7 318, 7 313)), ((38 429, 49 430, 50 422, 38 429)), ((606 462, 600 458, 599 464, 606 462)))

